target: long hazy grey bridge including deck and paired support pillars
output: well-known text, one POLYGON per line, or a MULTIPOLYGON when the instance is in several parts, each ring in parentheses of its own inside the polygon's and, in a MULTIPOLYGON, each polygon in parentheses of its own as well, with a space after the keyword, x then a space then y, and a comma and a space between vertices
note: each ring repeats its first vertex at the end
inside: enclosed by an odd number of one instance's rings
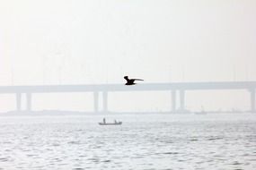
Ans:
POLYGON ((171 91, 172 112, 177 111, 177 96, 180 110, 185 110, 186 91, 189 90, 229 90, 244 89, 251 98, 251 112, 255 113, 256 81, 218 81, 218 82, 170 82, 142 83, 135 86, 123 84, 84 84, 84 85, 38 85, 38 86, 0 86, 0 94, 16 96, 16 110, 22 109, 22 95, 26 96, 26 110, 31 111, 32 95, 37 93, 92 92, 94 111, 99 112, 99 95, 102 95, 102 111, 108 112, 108 94, 113 91, 171 91))

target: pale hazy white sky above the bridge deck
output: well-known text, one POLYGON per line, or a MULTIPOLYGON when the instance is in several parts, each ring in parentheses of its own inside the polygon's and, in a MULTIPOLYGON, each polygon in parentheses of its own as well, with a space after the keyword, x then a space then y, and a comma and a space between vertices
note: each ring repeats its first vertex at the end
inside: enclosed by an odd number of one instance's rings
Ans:
POLYGON ((255 0, 0 0, 0 85, 256 81, 255 0))

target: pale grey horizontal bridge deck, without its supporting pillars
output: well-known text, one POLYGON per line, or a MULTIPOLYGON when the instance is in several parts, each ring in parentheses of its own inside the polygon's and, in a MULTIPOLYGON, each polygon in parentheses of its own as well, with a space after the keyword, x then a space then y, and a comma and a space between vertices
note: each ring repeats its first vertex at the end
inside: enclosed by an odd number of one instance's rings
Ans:
POLYGON ((0 93, 48 93, 175 89, 256 89, 256 81, 141 83, 137 84, 136 86, 125 86, 123 84, 0 86, 0 93))

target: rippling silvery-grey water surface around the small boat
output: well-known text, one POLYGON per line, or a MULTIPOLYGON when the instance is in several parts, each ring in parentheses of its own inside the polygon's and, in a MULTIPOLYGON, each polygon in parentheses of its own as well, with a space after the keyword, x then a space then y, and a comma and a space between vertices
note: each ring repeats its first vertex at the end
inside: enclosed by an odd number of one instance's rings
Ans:
POLYGON ((0 115, 0 169, 254 170, 256 115, 0 115))

